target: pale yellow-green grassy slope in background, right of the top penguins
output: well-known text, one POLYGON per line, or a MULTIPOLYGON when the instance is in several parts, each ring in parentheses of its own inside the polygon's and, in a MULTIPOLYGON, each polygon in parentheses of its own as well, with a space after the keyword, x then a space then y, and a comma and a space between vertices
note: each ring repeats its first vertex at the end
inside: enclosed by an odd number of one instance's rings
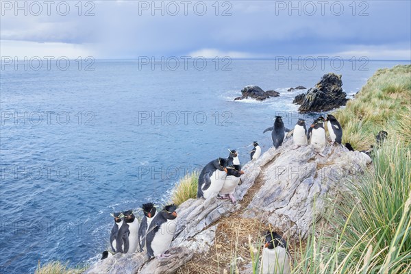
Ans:
POLYGON ((410 101, 411 65, 379 69, 346 108, 334 113, 343 127, 343 143, 369 149, 380 130, 395 135, 404 129, 408 135, 400 136, 410 137, 410 101))

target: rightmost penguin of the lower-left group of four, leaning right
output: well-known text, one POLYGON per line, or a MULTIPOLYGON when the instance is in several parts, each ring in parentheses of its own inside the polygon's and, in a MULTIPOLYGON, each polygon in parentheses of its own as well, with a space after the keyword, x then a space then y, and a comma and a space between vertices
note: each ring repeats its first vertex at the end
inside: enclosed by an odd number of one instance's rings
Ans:
POLYGON ((165 206, 161 212, 154 217, 147 233, 147 254, 149 258, 168 257, 164 253, 169 249, 175 230, 177 228, 177 206, 165 206))

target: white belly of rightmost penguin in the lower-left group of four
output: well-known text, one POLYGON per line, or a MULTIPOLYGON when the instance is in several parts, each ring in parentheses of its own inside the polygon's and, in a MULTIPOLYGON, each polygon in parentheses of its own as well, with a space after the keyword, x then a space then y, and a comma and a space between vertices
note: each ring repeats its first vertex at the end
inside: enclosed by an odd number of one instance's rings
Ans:
POLYGON ((175 229, 177 228, 177 219, 167 220, 166 223, 162 223, 158 232, 155 233, 151 241, 151 249, 153 249, 154 256, 160 256, 169 249, 175 229))

